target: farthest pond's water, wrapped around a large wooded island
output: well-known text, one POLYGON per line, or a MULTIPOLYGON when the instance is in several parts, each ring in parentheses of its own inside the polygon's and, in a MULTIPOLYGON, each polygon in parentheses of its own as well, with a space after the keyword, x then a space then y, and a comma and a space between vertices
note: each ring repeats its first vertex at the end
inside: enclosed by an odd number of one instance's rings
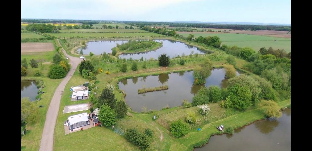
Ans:
MULTIPOLYGON (((112 48, 116 47, 116 44, 125 43, 128 40, 115 40, 115 41, 91 41, 87 43, 86 47, 82 47, 77 50, 76 53, 80 53, 82 50, 83 54, 89 54, 90 52, 100 55, 101 53, 111 53, 112 48)), ((204 54, 199 48, 187 45, 183 42, 168 40, 168 39, 154 39, 156 42, 163 42, 163 46, 157 50, 146 52, 146 53, 131 53, 131 54, 121 54, 118 57, 129 59, 140 59, 141 57, 150 59, 157 59, 163 53, 166 53, 171 58, 177 57, 178 55, 190 55, 190 53, 204 54)))

